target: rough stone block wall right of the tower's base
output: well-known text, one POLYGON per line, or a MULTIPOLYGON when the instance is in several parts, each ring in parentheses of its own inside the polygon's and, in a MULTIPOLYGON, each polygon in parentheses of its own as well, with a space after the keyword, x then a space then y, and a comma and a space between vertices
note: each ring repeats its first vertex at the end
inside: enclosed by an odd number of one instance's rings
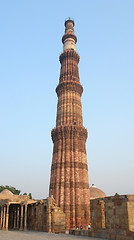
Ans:
POLYGON ((90 201, 91 230, 70 230, 71 234, 113 240, 134 240, 134 195, 90 201))

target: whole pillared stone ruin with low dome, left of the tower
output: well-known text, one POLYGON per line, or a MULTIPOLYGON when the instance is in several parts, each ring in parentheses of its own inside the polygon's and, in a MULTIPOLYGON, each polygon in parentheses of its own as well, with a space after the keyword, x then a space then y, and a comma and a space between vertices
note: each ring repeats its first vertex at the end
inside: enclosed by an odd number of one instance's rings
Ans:
POLYGON ((65 233, 65 213, 53 198, 31 200, 4 190, 0 193, 0 229, 65 233))

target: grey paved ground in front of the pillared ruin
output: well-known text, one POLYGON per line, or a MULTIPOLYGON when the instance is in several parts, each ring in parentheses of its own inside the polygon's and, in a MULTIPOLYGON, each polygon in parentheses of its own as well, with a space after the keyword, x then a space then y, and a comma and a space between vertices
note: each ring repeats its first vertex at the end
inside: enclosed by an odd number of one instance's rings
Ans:
MULTIPOLYGON (((0 230, 0 240, 100 240, 100 238, 90 238, 73 236, 69 234, 54 234, 46 232, 20 232, 0 230)), ((101 240, 105 240, 102 239, 101 240)))

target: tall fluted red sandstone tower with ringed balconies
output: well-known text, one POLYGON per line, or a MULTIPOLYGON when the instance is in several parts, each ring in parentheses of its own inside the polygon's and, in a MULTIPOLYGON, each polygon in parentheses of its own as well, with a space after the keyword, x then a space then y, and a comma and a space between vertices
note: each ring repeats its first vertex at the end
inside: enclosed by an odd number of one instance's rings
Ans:
POLYGON ((58 96, 56 127, 49 195, 66 213, 66 229, 89 224, 90 192, 86 157, 87 130, 83 127, 80 84, 74 21, 65 21, 62 37, 61 71, 56 88, 58 96))

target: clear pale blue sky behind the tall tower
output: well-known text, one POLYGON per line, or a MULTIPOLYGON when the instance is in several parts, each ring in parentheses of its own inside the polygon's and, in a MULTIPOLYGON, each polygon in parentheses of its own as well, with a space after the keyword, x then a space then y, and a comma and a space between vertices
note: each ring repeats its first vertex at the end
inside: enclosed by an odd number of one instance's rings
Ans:
POLYGON ((90 185, 134 194, 134 0, 0 1, 0 185, 48 196, 67 17, 78 38, 90 185))

